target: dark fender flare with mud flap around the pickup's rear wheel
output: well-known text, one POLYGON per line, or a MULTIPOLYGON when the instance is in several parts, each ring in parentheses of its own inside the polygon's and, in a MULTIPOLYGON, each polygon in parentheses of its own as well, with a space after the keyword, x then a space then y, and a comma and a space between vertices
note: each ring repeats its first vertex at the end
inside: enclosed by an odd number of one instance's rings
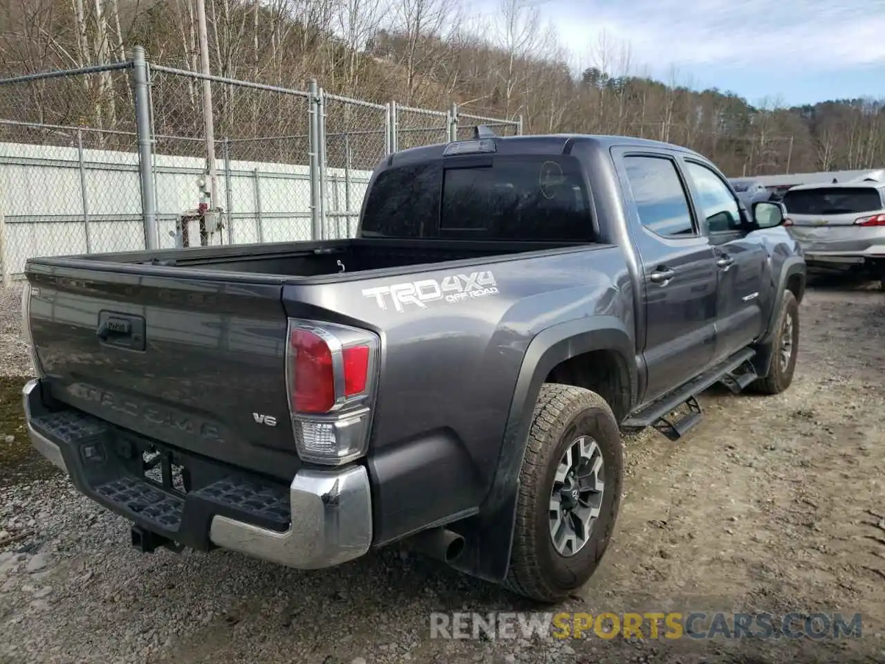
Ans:
POLYGON ((479 513, 460 529, 466 538, 466 547, 464 554, 452 563, 453 567, 495 583, 506 578, 519 497, 519 470, 526 453, 535 402, 553 367, 589 351, 614 351, 620 355, 629 380, 629 405, 635 405, 638 389, 635 343, 622 320, 614 316, 569 320, 545 328, 533 337, 519 368, 495 475, 479 513))

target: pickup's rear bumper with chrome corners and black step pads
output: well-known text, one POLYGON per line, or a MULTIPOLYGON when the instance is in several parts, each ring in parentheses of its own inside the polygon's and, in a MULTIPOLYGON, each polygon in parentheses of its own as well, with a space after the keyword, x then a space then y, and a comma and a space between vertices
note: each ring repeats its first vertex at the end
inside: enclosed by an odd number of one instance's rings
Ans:
POLYGON ((302 469, 287 487, 148 441, 81 411, 50 409, 39 380, 22 392, 35 449, 86 496, 160 537, 303 569, 353 560, 372 544, 365 467, 302 469), (161 459, 159 479, 143 472, 148 450, 161 459), (172 482, 173 467, 188 478, 182 486, 172 482))

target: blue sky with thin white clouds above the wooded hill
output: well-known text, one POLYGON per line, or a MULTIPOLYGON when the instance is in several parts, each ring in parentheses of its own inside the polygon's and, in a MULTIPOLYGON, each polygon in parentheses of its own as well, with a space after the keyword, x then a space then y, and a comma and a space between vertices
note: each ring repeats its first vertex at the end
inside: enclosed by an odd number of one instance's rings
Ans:
POLYGON ((629 45, 630 73, 674 71, 681 85, 750 103, 885 97, 885 0, 530 1, 576 67, 596 64, 604 40, 615 60, 629 45))

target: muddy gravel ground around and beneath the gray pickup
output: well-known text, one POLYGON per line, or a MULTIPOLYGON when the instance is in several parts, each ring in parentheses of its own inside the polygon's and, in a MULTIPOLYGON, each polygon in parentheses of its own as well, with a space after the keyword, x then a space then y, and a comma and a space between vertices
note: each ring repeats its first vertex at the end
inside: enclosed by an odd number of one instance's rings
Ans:
MULTIPOLYGON (((18 317, 18 293, 0 290, 0 371, 15 386, 29 373, 18 317)), ((860 639, 431 639, 431 611, 538 607, 398 548, 310 573, 230 552, 141 555, 126 521, 27 454, 0 461, 0 543, 18 537, 0 544, 0 662, 881 662, 885 294, 812 289, 801 322, 787 392, 714 388, 680 443, 627 439, 612 549, 560 610, 862 612, 860 639)), ((20 425, 0 445, 19 444, 20 425)))

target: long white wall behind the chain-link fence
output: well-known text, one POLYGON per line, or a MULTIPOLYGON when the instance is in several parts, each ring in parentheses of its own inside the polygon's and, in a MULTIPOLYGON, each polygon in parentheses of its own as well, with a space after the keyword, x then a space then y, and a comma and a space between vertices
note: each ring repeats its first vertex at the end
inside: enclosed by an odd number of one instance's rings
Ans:
MULTIPOLYGON (((204 159, 156 155, 159 243, 173 247, 175 222, 199 202, 197 180, 204 159)), ((231 161, 230 230, 233 242, 309 240, 311 183, 304 165, 231 161), (260 215, 258 209, 260 207, 260 215)), ((217 205, 227 211, 227 179, 218 160, 217 205)), ((345 173, 327 169, 327 236, 352 235, 371 171, 350 171, 350 210, 345 173), (349 212, 341 217, 334 212, 349 212)), ((20 274, 28 258, 144 249, 141 183, 135 152, 0 143, 0 262, 4 274, 20 274), (89 244, 84 222, 84 188, 89 244)), ((191 243, 198 243, 196 222, 191 243)), ((227 242, 227 234, 226 240, 227 242)))

